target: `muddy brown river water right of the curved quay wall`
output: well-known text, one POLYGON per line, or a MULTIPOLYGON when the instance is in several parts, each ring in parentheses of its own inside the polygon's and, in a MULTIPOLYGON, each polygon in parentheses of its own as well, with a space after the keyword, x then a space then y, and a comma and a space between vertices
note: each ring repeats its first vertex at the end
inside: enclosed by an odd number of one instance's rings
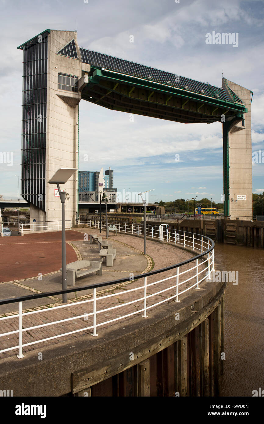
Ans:
POLYGON ((264 390, 264 249, 216 243, 215 262, 239 271, 225 291, 225 363, 221 396, 264 390))

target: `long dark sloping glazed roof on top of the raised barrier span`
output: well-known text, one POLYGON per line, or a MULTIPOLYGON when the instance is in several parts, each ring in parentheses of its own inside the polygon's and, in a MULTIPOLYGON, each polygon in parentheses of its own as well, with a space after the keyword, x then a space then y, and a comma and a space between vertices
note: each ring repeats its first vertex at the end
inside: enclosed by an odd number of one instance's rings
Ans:
MULTIPOLYGON (((148 81, 167 84, 175 88, 185 89, 186 91, 230 101, 230 98, 223 88, 212 86, 206 82, 195 81, 181 75, 161 71, 149 66, 98 53, 93 50, 80 48, 80 53, 83 63, 90 64, 96 68, 104 67, 107 70, 119 72, 125 75, 144 78, 148 81)), ((233 101, 243 103, 235 93, 233 93, 232 97, 233 101)))

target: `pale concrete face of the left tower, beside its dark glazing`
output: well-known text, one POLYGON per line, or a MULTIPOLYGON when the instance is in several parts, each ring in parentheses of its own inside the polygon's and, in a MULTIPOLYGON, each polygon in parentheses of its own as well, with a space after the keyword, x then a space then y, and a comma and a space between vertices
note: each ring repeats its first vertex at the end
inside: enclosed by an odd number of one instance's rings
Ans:
MULTIPOLYGON (((47 181, 60 167, 78 168, 78 104, 81 92, 58 89, 58 72, 82 76, 90 66, 83 64, 75 31, 51 31, 48 39, 47 68, 47 142, 46 142, 46 211, 31 205, 31 221, 61 220, 61 201, 54 195, 55 184, 47 181), (75 39, 78 59, 56 54, 75 39)), ((65 203, 65 219, 75 223, 78 211, 78 171, 60 185, 69 193, 65 203)))

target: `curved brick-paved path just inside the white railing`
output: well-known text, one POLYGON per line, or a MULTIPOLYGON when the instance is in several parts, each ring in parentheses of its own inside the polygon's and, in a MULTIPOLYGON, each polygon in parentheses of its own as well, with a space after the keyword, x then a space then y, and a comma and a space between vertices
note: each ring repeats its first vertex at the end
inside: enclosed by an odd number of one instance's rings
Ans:
MULTIPOLYGON (((80 232, 88 233, 88 234, 95 234, 96 230, 91 229, 79 229, 80 232)), ((102 233, 103 235, 104 233, 102 233)), ((131 246, 134 249, 137 249, 138 251, 143 251, 143 239, 139 237, 134 237, 132 235, 128 234, 118 234, 117 236, 113 236, 111 234, 111 237, 109 237, 111 240, 114 241, 115 244, 122 243, 127 245, 128 247, 131 246)), ((78 238, 78 240, 81 240, 81 237, 78 238)), ((78 250, 81 251, 80 243, 71 242, 72 244, 78 244, 79 248, 78 250)), ((174 245, 169 245, 166 243, 158 243, 157 241, 147 240, 147 254, 152 258, 152 261, 154 262, 154 269, 163 268, 165 266, 174 265, 178 262, 182 262, 186 259, 191 258, 193 255, 192 253, 188 251, 184 251, 182 249, 179 249, 175 247, 174 245)), ((192 266, 195 264, 192 263, 192 266)), ((204 267, 204 265, 201 265, 199 267, 199 271, 204 267)), ((183 265, 180 268, 180 272, 186 271, 190 268, 190 265, 183 265)), ((180 276, 179 282, 184 281, 185 279, 188 279, 192 277, 193 271, 188 271, 183 276, 180 276)), ((166 271, 159 274, 156 274, 154 276, 149 276, 147 278, 147 284, 150 284, 152 282, 159 281, 164 278, 168 278, 169 276, 175 275, 176 270, 166 271)), ((128 277, 129 278, 129 277, 128 277)), ((163 290, 165 288, 171 287, 175 285, 176 279, 169 279, 167 281, 152 285, 150 287, 147 287, 147 295, 156 293, 157 291, 163 290)), ((191 279, 189 282, 184 283, 179 287, 179 293, 182 290, 185 290, 187 287, 190 287, 194 285, 196 282, 196 279, 191 279)), ((106 321, 110 320, 116 320, 120 316, 135 313, 142 315, 143 308, 143 300, 138 300, 139 298, 142 298, 144 295, 144 289, 140 288, 139 290, 132 291, 128 293, 128 290, 131 290, 136 287, 142 287, 144 285, 144 279, 138 279, 137 281, 129 281, 128 283, 122 283, 122 285, 119 285, 119 287, 108 287, 106 290, 98 290, 97 296, 97 311, 101 310, 100 313, 97 314, 97 334, 100 336, 101 328, 108 329, 112 326, 120 326, 120 328, 123 328, 123 326, 127 325, 131 321, 133 321, 133 315, 122 318, 122 320, 119 321, 113 321, 111 323, 106 323, 106 321), (110 298, 105 298, 104 296, 109 294, 115 294, 115 296, 111 296, 110 298), (124 305, 125 302, 128 301, 135 301, 132 304, 124 305), (111 308, 111 307, 117 307, 112 310, 106 311, 105 309, 111 308)), ((195 290, 194 288, 192 290, 195 290)), ((161 302, 165 298, 168 298, 170 296, 175 295, 175 288, 171 290, 167 290, 165 293, 160 293, 156 296, 152 296, 147 299, 147 307, 153 304, 156 304, 158 302, 161 302)), ((184 294, 182 295, 184 296, 184 294)), ((58 321, 63 320, 69 317, 78 317, 83 314, 91 314, 86 315, 84 318, 75 318, 72 321, 67 322, 61 322, 55 325, 45 326, 39 329, 32 329, 27 330, 23 332, 23 344, 24 343, 30 343, 34 340, 42 340, 44 338, 49 338, 55 336, 53 340, 47 340, 45 342, 37 343, 32 346, 25 346, 23 348, 23 353, 26 354, 27 351, 31 351, 36 349, 37 352, 41 351, 43 346, 50 346, 57 343, 61 343, 66 340, 74 340, 81 335, 87 335, 89 333, 92 333, 92 329, 86 329, 87 327, 90 327, 93 325, 93 301, 92 301, 92 293, 89 293, 85 296, 83 296, 79 300, 86 299, 88 302, 82 303, 82 304, 75 304, 75 301, 78 301, 76 298, 75 300, 72 299, 70 304, 72 306, 63 307, 57 310, 53 310, 53 308, 42 310, 40 313, 34 313, 33 315, 25 315, 23 316, 23 328, 28 328, 31 326, 36 326, 40 324, 46 324, 48 322, 52 321, 58 321), (64 334, 67 332, 75 331, 78 329, 82 329, 81 332, 76 332, 72 335, 67 335, 61 338, 58 338, 58 334, 64 334)), ((172 299, 170 301, 174 301, 175 299, 172 299)), ((179 298, 181 300, 181 296, 179 298)), ((61 305, 61 302, 56 302, 56 305, 61 305)), ((177 310, 177 307, 180 308, 180 303, 175 303, 175 310, 177 310), (179 306, 178 306, 179 305, 179 306)), ((161 308, 162 303, 155 308, 161 308)), ((37 308, 35 308, 37 309, 37 308)), ((40 308, 39 308, 40 310, 40 308)), ((150 315, 152 313, 153 309, 147 310, 147 315, 150 315)), ((144 319, 144 318, 142 318, 144 319)), ((147 319, 147 318, 146 318, 147 319)), ((8 320, 0 321, 0 333, 3 332, 9 332, 13 330, 17 330, 18 328, 18 318, 10 318, 8 320)), ((0 349, 6 349, 11 346, 17 346, 17 340, 18 335, 8 335, 0 338, 0 349)), ((17 354, 17 349, 13 351, 8 351, 5 353, 0 354, 0 358, 8 357, 8 356, 14 356, 17 354)))

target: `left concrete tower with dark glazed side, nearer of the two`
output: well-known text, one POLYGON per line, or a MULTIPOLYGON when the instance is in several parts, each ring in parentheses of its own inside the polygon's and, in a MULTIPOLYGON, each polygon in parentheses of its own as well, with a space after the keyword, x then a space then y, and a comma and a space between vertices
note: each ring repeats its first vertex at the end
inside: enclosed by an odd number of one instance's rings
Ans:
MULTIPOLYGON (((23 49, 21 195, 36 222, 61 220, 60 198, 47 181, 60 167, 78 168, 78 80, 90 66, 81 61, 75 31, 46 30, 23 49)), ((75 223, 78 173, 65 185, 65 219, 75 223)))

